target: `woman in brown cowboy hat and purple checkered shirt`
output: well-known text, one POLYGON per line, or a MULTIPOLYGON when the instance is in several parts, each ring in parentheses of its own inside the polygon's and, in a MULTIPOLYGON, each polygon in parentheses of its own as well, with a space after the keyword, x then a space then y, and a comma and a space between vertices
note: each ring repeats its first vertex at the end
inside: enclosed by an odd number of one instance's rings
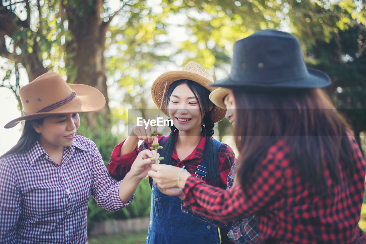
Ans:
POLYGON ((130 204, 150 169, 145 150, 123 181, 113 180, 96 145, 77 135, 78 113, 105 105, 91 86, 68 85, 55 72, 19 90, 25 120, 19 141, 0 157, 0 243, 87 243, 87 206, 116 211, 130 204))

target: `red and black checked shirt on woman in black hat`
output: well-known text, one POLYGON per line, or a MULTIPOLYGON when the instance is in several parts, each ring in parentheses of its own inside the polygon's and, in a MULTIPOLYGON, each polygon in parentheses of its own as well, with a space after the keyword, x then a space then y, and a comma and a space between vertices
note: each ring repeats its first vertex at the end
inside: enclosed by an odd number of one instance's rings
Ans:
MULTIPOLYGON (((183 204, 199 214, 219 221, 258 218, 258 230, 265 243, 366 243, 358 226, 365 187, 365 159, 353 136, 353 179, 339 165, 341 183, 336 184, 325 170, 329 194, 318 194, 296 168, 290 149, 279 140, 258 162, 248 184, 249 196, 241 185, 225 191, 189 177, 183 204)), ((326 165, 326 164, 325 164, 326 165)))

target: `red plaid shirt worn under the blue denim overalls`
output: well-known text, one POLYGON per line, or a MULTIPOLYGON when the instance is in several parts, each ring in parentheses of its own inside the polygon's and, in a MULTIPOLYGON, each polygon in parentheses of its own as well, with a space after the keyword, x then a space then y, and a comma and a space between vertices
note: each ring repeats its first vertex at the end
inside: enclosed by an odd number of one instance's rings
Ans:
MULTIPOLYGON (((158 136, 159 143, 162 138, 164 138, 164 136, 158 136)), ((170 164, 173 166, 177 166, 179 168, 182 168, 184 165, 185 166, 184 169, 186 169, 190 174, 195 176, 197 166, 200 165, 202 162, 203 148, 205 147, 205 142, 206 142, 206 135, 203 135, 197 147, 193 150, 193 152, 190 155, 188 155, 188 157, 186 157, 183 160, 180 160, 178 158, 176 151, 174 150, 170 164)), ((109 159, 108 164, 109 174, 112 176, 113 179, 116 180, 122 180, 124 176, 126 176, 127 172, 130 171, 131 165, 135 161, 138 153, 142 150, 149 149, 152 144, 143 142, 141 143, 139 148, 136 147, 136 149, 131 153, 122 155, 122 157, 120 157, 121 147, 123 143, 124 141, 118 144, 113 149, 111 159, 109 159)), ((230 172, 231 165, 235 161, 235 154, 232 148, 224 143, 221 144, 218 152, 219 152, 219 175, 221 181, 219 187, 222 189, 226 189, 228 174, 230 172)), ((207 184, 210 184, 207 177, 203 179, 207 184)), ((149 182, 151 185, 152 179, 150 177, 149 182)), ((228 231, 229 229, 220 228, 221 236, 223 237, 223 239, 226 239, 225 243, 230 243, 230 241, 227 238, 228 231)))

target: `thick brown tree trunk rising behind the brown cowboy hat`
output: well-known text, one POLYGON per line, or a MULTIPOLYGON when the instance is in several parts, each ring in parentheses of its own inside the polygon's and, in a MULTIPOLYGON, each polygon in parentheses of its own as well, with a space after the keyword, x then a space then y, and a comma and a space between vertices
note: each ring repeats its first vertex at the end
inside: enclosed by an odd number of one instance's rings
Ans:
POLYGON ((81 16, 80 8, 70 7, 70 4, 63 6, 68 15, 68 28, 73 36, 72 40, 66 43, 67 53, 72 53, 69 55, 71 57, 66 56, 65 58, 68 82, 93 86, 101 91, 106 100, 105 108, 101 112, 86 115, 87 127, 95 127, 98 124, 98 116, 101 116, 105 122, 105 129, 107 129, 110 124, 110 109, 103 54, 105 33, 109 23, 102 22, 100 18, 102 0, 94 0, 93 4, 87 4, 84 2, 82 6, 79 6, 83 8, 83 12, 88 13, 81 16))

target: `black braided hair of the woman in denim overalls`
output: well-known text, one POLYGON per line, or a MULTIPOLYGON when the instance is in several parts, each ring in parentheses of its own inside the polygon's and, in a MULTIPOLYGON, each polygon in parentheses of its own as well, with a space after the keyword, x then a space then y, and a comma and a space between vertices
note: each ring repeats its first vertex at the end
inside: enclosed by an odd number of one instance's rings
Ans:
MULTIPOLYGON (((187 84, 189 89, 196 97, 199 108, 201 109, 201 116, 203 117, 203 123, 205 124, 205 126, 202 126, 202 131, 207 136, 205 147, 203 149, 203 158, 206 158, 207 163, 206 177, 211 185, 218 186, 220 184, 219 153, 216 144, 213 142, 211 137, 214 133, 213 127, 215 124, 213 123, 210 113, 207 109, 210 106, 213 106, 212 102, 209 100, 210 91, 193 80, 177 80, 169 86, 167 91, 167 99, 165 100, 166 108, 168 108, 170 96, 172 95, 173 90, 181 84, 187 84)), ((164 161, 161 161, 161 164, 170 164, 178 132, 178 129, 174 125, 171 126, 170 135, 164 141, 163 149, 161 150, 161 156, 165 158, 164 161)))

